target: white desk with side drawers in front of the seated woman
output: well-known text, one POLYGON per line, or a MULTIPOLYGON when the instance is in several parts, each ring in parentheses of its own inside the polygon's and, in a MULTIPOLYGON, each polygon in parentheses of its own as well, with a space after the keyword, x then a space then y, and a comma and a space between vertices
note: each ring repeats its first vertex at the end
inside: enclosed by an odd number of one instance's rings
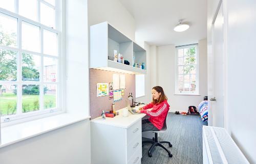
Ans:
POLYGON ((91 120, 91 153, 93 164, 141 163, 141 118, 145 114, 91 120))

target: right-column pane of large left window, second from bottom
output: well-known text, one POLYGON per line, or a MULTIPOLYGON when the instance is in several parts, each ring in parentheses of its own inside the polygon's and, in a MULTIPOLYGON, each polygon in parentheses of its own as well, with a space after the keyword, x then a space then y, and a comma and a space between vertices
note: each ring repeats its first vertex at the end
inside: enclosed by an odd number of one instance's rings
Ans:
POLYGON ((57 60, 44 57, 44 81, 57 81, 57 60))

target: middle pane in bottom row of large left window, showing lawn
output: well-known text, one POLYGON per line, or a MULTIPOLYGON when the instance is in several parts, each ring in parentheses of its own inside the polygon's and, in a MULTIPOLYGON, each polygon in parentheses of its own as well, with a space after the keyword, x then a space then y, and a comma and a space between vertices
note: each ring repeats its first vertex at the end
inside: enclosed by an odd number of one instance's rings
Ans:
POLYGON ((39 110, 39 85, 22 86, 22 112, 32 112, 39 110))

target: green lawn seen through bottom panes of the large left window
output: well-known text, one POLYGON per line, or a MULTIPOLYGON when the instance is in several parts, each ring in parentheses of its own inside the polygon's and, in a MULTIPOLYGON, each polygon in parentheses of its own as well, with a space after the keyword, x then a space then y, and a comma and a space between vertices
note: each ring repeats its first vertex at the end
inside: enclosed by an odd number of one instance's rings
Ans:
MULTIPOLYGON (((13 93, 3 93, 0 96, 0 111, 2 115, 16 114, 17 96, 13 93)), ((39 95, 22 96, 23 113, 39 110, 39 95)), ((55 95, 44 95, 44 108, 56 106, 55 95)))

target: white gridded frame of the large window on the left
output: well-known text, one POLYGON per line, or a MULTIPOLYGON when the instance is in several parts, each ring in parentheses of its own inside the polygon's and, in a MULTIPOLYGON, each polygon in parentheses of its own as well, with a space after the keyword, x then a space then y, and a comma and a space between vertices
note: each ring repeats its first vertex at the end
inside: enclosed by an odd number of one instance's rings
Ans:
MULTIPOLYGON (((63 14, 60 12, 61 8, 63 9, 63 3, 59 0, 55 0, 55 6, 49 4, 44 0, 36 0, 37 1, 37 21, 32 19, 26 18, 22 15, 18 14, 18 0, 15 0, 15 12, 11 12, 9 10, 3 9, 0 7, 0 13, 3 15, 7 15, 17 19, 17 47, 10 47, 5 45, 0 45, 1 49, 7 49, 17 52, 17 80, 16 81, 0 81, 1 85, 16 85, 17 86, 17 110, 15 115, 5 115, 1 116, 1 122, 4 126, 13 125, 16 123, 22 123, 30 120, 35 120, 39 118, 49 117, 53 115, 58 115, 61 113, 65 113, 66 110, 63 108, 64 101, 63 101, 63 94, 65 91, 62 91, 63 79, 64 79, 64 70, 66 69, 66 65, 62 65, 65 63, 65 52, 66 48, 62 45, 65 45, 65 41, 61 37, 63 29, 65 28, 62 23, 63 14), (51 28, 50 26, 46 26, 40 23, 40 3, 44 3, 45 5, 53 8, 55 10, 55 29, 51 28), (39 34, 40 34, 40 52, 30 51, 22 49, 22 22, 27 22, 32 25, 36 25, 39 27, 39 34), (57 56, 44 54, 44 30, 48 30, 50 32, 57 34, 57 56), (22 54, 29 53, 32 55, 36 55, 40 57, 40 68, 39 68, 39 81, 22 81, 22 54), (57 81, 44 81, 44 57, 56 59, 56 72, 57 72, 57 81), (23 85, 39 85, 39 105, 40 108, 38 111, 31 111, 28 113, 22 112, 22 86, 23 85), (44 109, 44 85, 56 85, 56 107, 44 109)), ((65 30, 65 29, 64 29, 65 30)))

